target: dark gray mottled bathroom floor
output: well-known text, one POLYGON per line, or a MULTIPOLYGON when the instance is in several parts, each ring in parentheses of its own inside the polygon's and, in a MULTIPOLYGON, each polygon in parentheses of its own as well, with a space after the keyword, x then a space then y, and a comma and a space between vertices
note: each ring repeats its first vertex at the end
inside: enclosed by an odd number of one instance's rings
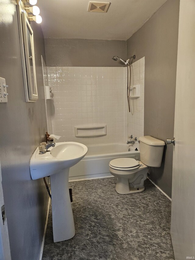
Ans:
POLYGON ((116 178, 70 182, 76 234, 54 243, 51 207, 43 260, 170 260, 171 202, 149 180, 120 195, 116 178))

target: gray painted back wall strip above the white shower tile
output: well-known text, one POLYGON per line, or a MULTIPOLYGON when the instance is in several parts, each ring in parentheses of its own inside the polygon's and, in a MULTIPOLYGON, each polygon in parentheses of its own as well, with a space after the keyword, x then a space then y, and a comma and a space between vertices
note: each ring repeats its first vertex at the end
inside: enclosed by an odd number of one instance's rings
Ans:
POLYGON ((125 59, 126 41, 45 38, 47 66, 116 67, 114 55, 125 59))

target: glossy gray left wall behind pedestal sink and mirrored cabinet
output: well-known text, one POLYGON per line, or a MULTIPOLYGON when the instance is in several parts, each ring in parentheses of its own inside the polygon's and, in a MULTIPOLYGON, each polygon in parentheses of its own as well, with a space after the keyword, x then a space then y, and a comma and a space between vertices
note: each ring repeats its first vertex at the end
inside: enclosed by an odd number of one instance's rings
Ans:
POLYGON ((31 180, 29 162, 47 130, 41 55, 41 27, 34 30, 39 99, 26 103, 15 1, 0 2, 0 77, 5 77, 8 103, 0 104, 0 161, 12 259, 38 259, 48 193, 43 179, 31 180))

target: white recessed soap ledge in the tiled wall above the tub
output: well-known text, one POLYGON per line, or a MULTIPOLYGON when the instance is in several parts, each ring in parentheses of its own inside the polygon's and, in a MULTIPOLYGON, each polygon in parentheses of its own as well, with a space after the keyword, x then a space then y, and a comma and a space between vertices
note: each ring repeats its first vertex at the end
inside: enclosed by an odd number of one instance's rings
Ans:
POLYGON ((106 125, 75 126, 76 137, 95 137, 106 135, 106 125))

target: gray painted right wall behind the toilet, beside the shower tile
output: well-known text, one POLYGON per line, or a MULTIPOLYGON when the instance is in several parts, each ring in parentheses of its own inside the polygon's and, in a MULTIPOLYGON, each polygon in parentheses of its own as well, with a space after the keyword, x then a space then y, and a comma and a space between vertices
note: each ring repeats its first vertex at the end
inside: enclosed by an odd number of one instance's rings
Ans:
MULTIPOLYGON (((166 142, 174 134, 179 0, 168 0, 127 40, 127 56, 145 56, 144 135, 166 142)), ((169 197, 173 146, 165 146, 162 165, 150 178, 169 197)))

